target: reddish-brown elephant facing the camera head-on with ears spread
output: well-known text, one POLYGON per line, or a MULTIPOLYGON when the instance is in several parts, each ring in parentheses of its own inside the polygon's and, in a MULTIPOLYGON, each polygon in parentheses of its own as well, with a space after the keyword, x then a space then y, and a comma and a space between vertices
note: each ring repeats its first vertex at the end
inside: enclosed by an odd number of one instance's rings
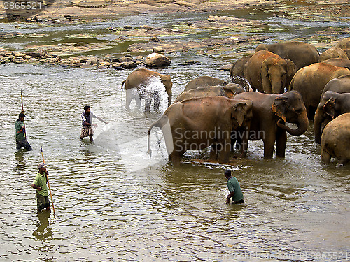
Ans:
POLYGON ((244 76, 253 91, 258 89, 265 94, 283 93, 296 71, 292 61, 267 50, 253 54, 244 66, 244 76))

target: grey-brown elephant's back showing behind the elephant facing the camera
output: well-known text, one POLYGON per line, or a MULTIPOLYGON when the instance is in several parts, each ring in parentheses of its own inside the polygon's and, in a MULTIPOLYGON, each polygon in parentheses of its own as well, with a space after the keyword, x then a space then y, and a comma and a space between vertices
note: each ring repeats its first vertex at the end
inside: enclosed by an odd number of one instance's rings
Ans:
POLYGON ((309 66, 318 62, 318 57, 320 54, 314 45, 303 42, 283 42, 274 43, 271 45, 260 44, 255 48, 255 52, 260 50, 267 50, 278 54, 284 59, 290 59, 293 61, 297 69, 303 68, 304 66, 309 66))

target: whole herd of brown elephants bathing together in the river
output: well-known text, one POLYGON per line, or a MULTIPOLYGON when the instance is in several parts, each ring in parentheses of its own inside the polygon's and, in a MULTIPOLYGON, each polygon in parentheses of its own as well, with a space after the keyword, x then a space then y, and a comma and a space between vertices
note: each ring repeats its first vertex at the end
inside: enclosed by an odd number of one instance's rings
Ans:
MULTIPOLYGON (((230 82, 202 76, 188 82, 172 103, 172 79, 147 69, 132 72, 125 83, 127 108, 131 89, 157 76, 165 85, 169 107, 148 129, 148 153, 153 127, 162 129, 169 160, 181 164, 186 150, 210 147, 210 160, 229 161, 230 152, 245 157, 249 140, 262 140, 264 157, 284 157, 287 133, 300 136, 314 121, 315 142, 321 143, 321 161, 350 160, 350 38, 322 54, 309 43, 261 44, 250 57, 238 59, 230 69, 230 82), (255 92, 258 91, 258 92, 255 92), (295 129, 286 123, 297 125, 295 129)), ((122 85, 123 88, 123 85, 122 85)), ((151 100, 146 98, 145 110, 151 100)))

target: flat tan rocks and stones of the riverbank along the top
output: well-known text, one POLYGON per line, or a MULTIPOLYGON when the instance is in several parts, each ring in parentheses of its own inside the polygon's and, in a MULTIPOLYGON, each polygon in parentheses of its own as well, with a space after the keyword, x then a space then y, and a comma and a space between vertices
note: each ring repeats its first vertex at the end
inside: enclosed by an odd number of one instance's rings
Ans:
MULTIPOLYGON (((181 0, 160 0, 160 1, 98 1, 98 0, 59 0, 48 6, 43 12, 27 18, 21 23, 25 27, 59 26, 65 27, 69 24, 85 24, 86 22, 110 22, 118 15, 155 14, 155 13, 207 13, 221 10, 237 10, 246 7, 266 6, 269 10, 274 6, 275 17, 288 15, 293 17, 297 13, 305 13, 304 19, 309 20, 339 20, 347 17, 349 5, 342 5, 344 1, 324 1, 315 4, 313 1, 300 1, 285 8, 285 1, 269 0, 239 0, 239 1, 181 1, 181 0), (334 3, 334 5, 332 4, 334 3), (317 15, 317 14, 320 15, 317 15), (310 15, 312 14, 312 16, 310 15)), ((270 11, 271 12, 271 9, 270 11)), ((6 14, 1 14, 6 16, 6 14)), ((295 18, 297 19, 297 18, 295 18)), ((82 31, 80 34, 72 34, 66 38, 66 42, 59 41, 35 41, 45 38, 45 35, 21 34, 16 31, 0 32, 0 39, 6 41, 17 41, 19 38, 34 39, 27 41, 24 48, 13 50, 13 48, 0 48, 0 63, 29 63, 29 64, 55 64, 61 66, 82 67, 82 68, 136 68, 144 64, 144 54, 152 52, 160 54, 172 54, 174 52, 192 52, 195 55, 211 56, 224 54, 237 50, 240 46, 253 46, 255 42, 263 41, 270 36, 254 34, 265 27, 261 20, 229 17, 225 15, 208 15, 204 20, 183 20, 172 24, 171 27, 155 27, 144 24, 139 27, 132 27, 124 24, 122 27, 108 27, 102 35, 110 41, 101 41, 99 36, 94 36, 82 31), (228 35, 226 30, 252 32, 253 34, 228 35), (194 35, 203 32, 221 31, 222 37, 218 38, 197 38, 193 41, 184 41, 187 35, 194 35), (170 37, 169 37, 170 36, 170 37), (72 40, 72 41, 70 41, 72 40), (125 45, 125 51, 120 54, 106 50, 115 48, 118 45, 125 45), (99 57, 85 55, 104 53, 99 57), (142 56, 140 56, 142 54, 142 56)), ((337 40, 328 35, 349 34, 349 28, 327 28, 323 32, 316 33, 309 39, 298 38, 295 41, 308 41, 325 48, 328 43, 337 40)), ((259 32, 260 33, 260 32, 259 32)), ((332 44, 330 44, 332 45, 332 44)), ((3 45, 6 46, 6 45, 3 45)), ((17 46, 17 45, 12 45, 17 46)), ((250 52, 249 50, 246 52, 250 52)), ((251 48, 253 52, 253 48, 251 48)), ((236 54, 237 57, 242 54, 236 54)), ((179 65, 193 64, 197 61, 181 61, 179 65)))

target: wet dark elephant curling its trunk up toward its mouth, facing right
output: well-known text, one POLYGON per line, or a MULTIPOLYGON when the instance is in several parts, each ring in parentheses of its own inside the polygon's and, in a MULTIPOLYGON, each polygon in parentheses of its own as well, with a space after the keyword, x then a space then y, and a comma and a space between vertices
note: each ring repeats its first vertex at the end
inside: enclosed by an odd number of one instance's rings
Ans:
POLYGON ((264 143, 264 157, 271 159, 276 143, 277 157, 284 157, 286 152, 287 133, 300 136, 309 126, 307 112, 299 92, 290 91, 284 94, 262 94, 244 92, 235 99, 248 99, 253 102, 249 140, 260 140, 264 143), (297 124, 297 129, 290 129, 286 122, 297 124))

